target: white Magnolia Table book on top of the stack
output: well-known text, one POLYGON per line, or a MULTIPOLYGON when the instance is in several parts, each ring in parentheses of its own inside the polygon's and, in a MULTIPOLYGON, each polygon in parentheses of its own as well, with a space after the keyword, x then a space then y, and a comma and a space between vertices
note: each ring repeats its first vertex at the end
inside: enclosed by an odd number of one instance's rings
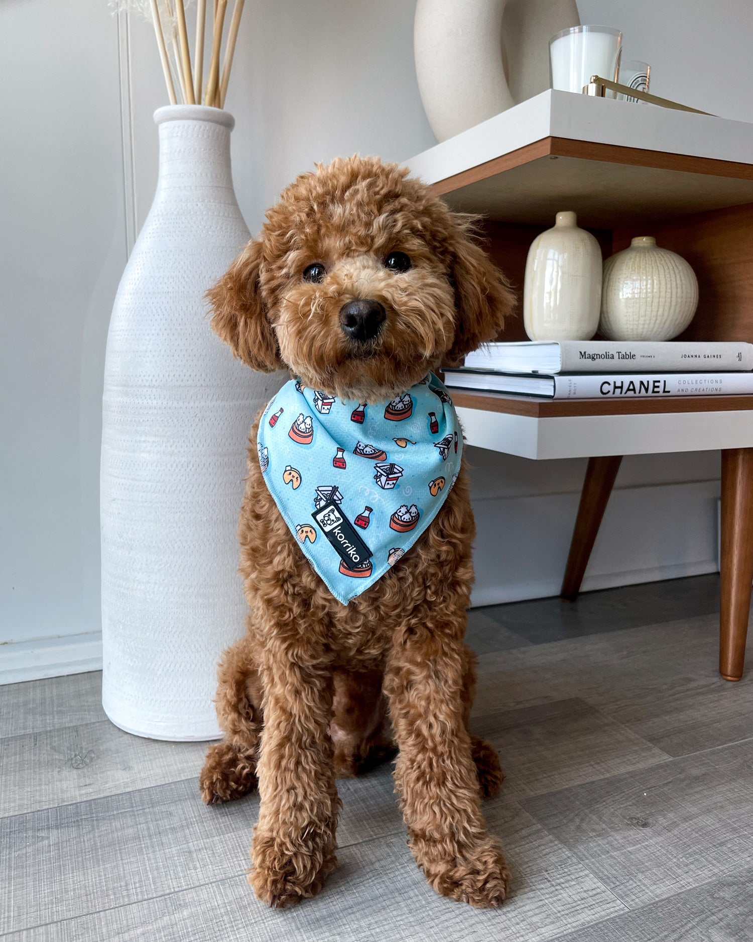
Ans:
POLYGON ((696 373, 753 369, 753 344, 649 340, 524 341, 487 344, 465 358, 470 369, 501 373, 696 373))

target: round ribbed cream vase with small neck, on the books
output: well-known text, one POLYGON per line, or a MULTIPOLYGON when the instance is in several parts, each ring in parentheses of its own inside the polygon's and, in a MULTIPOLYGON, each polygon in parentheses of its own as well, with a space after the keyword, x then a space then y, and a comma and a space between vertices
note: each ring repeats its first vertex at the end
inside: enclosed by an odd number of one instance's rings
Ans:
POLYGON ((608 340, 671 340, 697 305, 696 272, 652 235, 633 238, 604 263, 599 331, 608 340))

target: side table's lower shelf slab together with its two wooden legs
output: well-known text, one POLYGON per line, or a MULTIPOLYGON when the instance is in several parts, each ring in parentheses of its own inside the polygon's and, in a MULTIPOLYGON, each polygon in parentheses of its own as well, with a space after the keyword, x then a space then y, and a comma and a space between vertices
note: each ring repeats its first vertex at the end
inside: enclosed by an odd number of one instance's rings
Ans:
POLYGON ((580 592, 623 455, 722 452, 719 672, 740 680, 753 584, 753 396, 534 399, 451 389, 469 445, 588 458, 561 595, 580 592))

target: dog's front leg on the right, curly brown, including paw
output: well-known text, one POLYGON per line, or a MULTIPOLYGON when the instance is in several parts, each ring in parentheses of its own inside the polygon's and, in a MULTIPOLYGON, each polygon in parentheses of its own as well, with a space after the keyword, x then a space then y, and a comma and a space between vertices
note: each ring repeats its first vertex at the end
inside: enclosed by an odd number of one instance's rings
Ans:
POLYGON ((463 723, 463 644, 448 633, 407 628, 388 660, 385 690, 400 750, 395 782, 410 849, 428 882, 453 900, 499 906, 505 858, 481 813, 463 723))

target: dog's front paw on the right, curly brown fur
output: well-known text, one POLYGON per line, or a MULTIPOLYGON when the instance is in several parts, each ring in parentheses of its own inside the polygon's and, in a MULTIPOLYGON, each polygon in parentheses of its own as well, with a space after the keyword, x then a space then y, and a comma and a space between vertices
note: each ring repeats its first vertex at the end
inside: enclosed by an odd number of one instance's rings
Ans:
POLYGON ((451 860, 419 861, 429 884, 450 900, 479 909, 501 906, 507 897, 509 871, 497 843, 487 838, 451 860))

